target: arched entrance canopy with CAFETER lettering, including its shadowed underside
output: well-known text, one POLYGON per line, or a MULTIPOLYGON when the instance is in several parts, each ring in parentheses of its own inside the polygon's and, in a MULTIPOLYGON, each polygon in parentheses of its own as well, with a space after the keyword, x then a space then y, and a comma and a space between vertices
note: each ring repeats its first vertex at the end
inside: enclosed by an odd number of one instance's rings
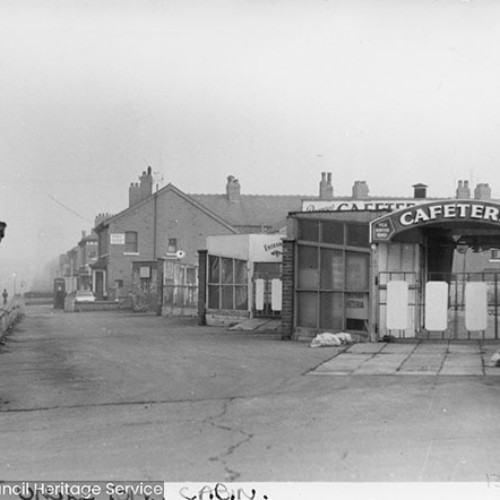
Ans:
POLYGON ((447 199, 403 208, 373 220, 370 241, 389 242, 431 229, 443 234, 475 236, 487 246, 497 246, 500 243, 500 203, 447 199))

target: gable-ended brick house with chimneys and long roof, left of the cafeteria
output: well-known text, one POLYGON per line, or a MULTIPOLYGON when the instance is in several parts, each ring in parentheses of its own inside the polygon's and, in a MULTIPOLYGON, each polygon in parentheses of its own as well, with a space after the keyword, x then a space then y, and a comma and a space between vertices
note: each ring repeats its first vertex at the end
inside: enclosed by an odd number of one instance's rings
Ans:
POLYGON ((139 181, 129 188, 129 206, 96 225, 92 269, 99 299, 130 300, 141 310, 156 304, 164 313, 196 314, 198 251, 206 237, 284 225, 301 203, 301 196, 243 195, 233 176, 223 194, 186 194, 173 184, 153 192, 151 168, 139 181))

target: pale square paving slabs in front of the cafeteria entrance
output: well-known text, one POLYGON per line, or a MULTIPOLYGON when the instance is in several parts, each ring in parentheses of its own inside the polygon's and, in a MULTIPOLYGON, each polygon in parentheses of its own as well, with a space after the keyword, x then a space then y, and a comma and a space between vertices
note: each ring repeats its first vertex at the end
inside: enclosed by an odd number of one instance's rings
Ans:
POLYGON ((363 343, 334 347, 311 375, 500 376, 491 361, 498 342, 363 343))

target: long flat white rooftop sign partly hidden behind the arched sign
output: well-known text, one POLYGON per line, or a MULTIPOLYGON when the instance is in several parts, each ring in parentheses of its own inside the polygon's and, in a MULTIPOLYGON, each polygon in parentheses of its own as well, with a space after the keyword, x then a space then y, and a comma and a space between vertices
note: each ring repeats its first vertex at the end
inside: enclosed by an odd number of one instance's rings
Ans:
MULTIPOLYGON (((425 200, 422 200, 425 201, 425 200)), ((419 200, 302 200, 303 212, 393 212, 413 207, 419 200)))

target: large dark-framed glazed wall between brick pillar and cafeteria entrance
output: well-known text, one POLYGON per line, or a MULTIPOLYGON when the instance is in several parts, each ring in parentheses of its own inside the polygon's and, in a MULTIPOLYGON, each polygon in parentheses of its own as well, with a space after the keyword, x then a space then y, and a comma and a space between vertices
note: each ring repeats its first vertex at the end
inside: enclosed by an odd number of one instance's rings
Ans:
POLYGON ((367 223, 298 221, 298 327, 368 331, 369 275, 367 223))

